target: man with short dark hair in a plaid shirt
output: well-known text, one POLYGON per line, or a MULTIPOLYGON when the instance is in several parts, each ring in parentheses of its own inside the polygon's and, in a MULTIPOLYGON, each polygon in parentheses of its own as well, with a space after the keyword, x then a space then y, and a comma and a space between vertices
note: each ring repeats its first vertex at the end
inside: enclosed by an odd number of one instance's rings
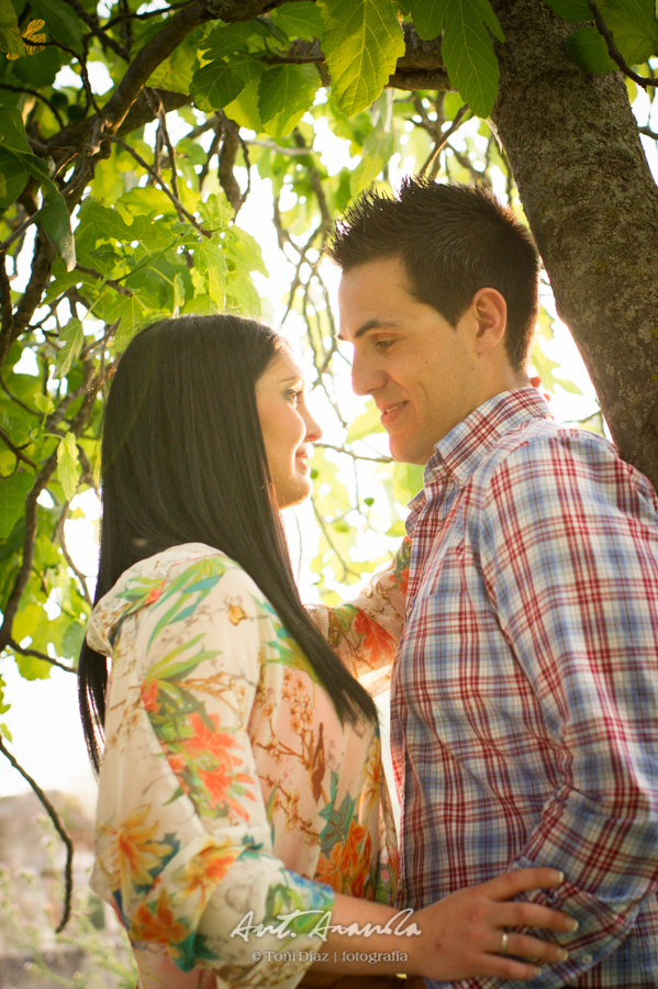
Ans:
POLYGON ((391 694, 400 902, 553 866, 533 899, 580 926, 532 985, 658 986, 653 488, 527 387, 538 258, 486 190, 367 193, 330 254, 355 391, 427 465, 391 694))

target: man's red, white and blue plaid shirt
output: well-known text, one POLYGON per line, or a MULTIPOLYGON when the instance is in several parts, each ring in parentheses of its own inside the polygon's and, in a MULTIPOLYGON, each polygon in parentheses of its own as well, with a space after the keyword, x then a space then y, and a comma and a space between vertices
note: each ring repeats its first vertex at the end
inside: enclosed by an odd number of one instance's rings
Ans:
POLYGON ((653 488, 524 388, 436 445, 411 509, 391 698, 400 902, 553 866, 565 882, 529 898, 580 930, 524 985, 658 986, 653 488))

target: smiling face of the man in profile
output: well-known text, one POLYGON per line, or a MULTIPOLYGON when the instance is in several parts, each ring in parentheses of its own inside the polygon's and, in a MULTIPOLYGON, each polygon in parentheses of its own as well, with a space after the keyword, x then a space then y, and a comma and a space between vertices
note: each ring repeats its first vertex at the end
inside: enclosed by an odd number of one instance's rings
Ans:
POLYGON ((354 344, 354 390, 375 399, 391 455, 426 464, 434 445, 479 404, 477 353, 468 312, 451 326, 408 285, 399 258, 344 274, 341 336, 354 344))

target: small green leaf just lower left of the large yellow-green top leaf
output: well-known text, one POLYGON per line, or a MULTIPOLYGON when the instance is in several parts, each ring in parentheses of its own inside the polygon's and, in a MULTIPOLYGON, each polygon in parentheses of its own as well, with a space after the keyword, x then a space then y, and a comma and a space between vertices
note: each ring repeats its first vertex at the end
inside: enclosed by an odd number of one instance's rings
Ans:
POLYGON ((297 65, 276 65, 267 69, 258 86, 260 119, 268 134, 283 137, 313 105, 320 76, 311 66, 310 75, 297 65))

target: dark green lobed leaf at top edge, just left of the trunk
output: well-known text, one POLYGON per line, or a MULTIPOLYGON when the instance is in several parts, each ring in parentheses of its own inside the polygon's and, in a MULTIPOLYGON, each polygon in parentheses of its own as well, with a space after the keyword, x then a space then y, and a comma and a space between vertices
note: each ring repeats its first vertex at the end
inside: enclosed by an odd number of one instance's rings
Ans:
POLYGON ((445 23, 440 52, 450 82, 473 113, 489 116, 500 73, 487 27, 505 40, 489 0, 413 0, 412 13, 423 38, 438 37, 445 23))

